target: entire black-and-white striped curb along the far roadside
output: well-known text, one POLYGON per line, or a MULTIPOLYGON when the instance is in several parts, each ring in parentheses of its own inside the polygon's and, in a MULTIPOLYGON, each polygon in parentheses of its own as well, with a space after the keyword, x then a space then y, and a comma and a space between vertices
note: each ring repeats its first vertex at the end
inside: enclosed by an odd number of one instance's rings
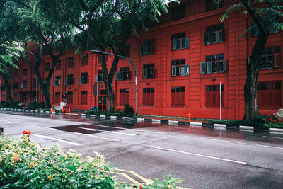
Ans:
MULTIPOLYGON (((20 112, 32 112, 32 113, 48 113, 50 114, 50 111, 42 111, 42 110, 27 110, 27 109, 14 109, 14 108, 0 108, 0 110, 5 111, 20 111, 20 112)), ((59 113, 63 114, 63 113, 59 113)), ((71 114, 71 113, 68 113, 71 114)), ((100 120, 125 120, 125 121, 135 121, 135 122, 152 122, 157 124, 166 124, 166 125, 190 125, 190 126, 200 126, 200 127, 221 127, 222 130, 225 129, 236 129, 240 131, 265 131, 265 132, 277 132, 283 134, 283 129, 279 128, 266 128, 266 130, 257 130, 255 127, 252 126, 235 126, 235 125, 224 125, 224 124, 214 124, 214 123, 206 123, 206 122, 188 122, 188 121, 177 121, 177 120, 158 120, 158 119, 147 119, 147 118, 130 118, 130 117, 118 117, 118 116, 108 116, 108 115, 86 115, 86 114, 71 114, 71 115, 77 115, 81 116, 83 118, 94 118, 94 119, 100 119, 100 120)))

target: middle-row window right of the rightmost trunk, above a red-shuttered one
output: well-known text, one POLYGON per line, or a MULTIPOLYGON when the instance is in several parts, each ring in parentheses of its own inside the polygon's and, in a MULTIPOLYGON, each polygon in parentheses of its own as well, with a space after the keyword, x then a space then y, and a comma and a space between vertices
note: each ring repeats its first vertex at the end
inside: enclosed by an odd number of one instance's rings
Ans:
POLYGON ((280 47, 270 47, 262 51, 260 69, 281 67, 280 47))

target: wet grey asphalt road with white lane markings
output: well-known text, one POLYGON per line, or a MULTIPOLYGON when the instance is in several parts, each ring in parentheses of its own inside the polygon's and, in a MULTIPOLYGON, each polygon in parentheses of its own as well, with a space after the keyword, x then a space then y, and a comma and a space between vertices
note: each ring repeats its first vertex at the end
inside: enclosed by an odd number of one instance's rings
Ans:
POLYGON ((283 134, 94 120, 72 115, 6 114, 4 134, 31 139, 42 147, 57 143, 82 156, 100 152, 113 165, 145 178, 167 174, 190 188, 282 188, 283 134))

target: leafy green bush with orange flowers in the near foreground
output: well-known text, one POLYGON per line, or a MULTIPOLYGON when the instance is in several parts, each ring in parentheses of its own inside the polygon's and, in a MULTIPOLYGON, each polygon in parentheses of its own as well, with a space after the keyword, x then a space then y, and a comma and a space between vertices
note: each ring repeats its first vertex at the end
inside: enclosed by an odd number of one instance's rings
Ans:
POLYGON ((177 188, 180 178, 167 176, 132 185, 115 181, 103 156, 81 158, 58 147, 40 148, 29 137, 0 137, 0 188, 177 188))

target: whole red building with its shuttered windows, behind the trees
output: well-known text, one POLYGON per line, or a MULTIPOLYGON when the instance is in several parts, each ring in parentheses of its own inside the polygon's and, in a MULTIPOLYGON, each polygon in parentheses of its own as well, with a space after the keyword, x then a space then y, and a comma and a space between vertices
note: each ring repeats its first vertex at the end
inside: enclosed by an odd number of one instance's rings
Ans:
MULTIPOLYGON (((258 31, 238 38, 252 23, 241 11, 231 13, 223 23, 219 21, 233 1, 224 1, 220 8, 207 0, 181 2, 169 8, 160 24, 139 32, 127 42, 126 54, 137 67, 138 113, 171 116, 192 113, 194 118, 219 118, 221 82, 221 118, 242 119, 247 57, 258 31)), ((282 41, 282 32, 275 29, 262 55, 259 106, 260 113, 267 115, 282 108, 282 41)), ((28 51, 35 49, 30 46, 28 51)), ((108 56, 108 64, 112 58, 108 56)), ((47 76, 50 62, 48 55, 43 57, 42 78, 47 76)), ((28 103, 35 98, 34 64, 34 57, 28 55, 28 61, 22 61, 18 73, 13 74, 11 92, 15 101, 28 103)), ((52 75, 52 104, 59 105, 62 91, 67 91, 67 105, 71 109, 89 110, 97 103, 92 97, 97 77, 101 84, 98 105, 105 110, 107 98, 101 70, 99 55, 87 52, 81 57, 74 51, 64 52, 52 75)), ((122 109, 125 103, 135 108, 134 69, 125 59, 120 59, 113 86, 115 109, 122 109)), ((1 98, 6 99, 4 88, 1 98)), ((41 93, 40 101, 44 101, 41 93)))

